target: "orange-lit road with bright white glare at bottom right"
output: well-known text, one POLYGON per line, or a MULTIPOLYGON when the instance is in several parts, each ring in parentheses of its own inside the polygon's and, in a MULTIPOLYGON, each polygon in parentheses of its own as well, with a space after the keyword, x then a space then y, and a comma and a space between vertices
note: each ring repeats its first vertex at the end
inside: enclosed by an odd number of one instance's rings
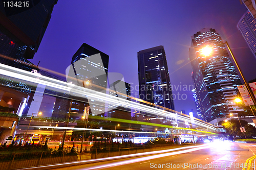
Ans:
MULTIPOLYGON (((140 156, 99 163, 55 168, 67 169, 253 169, 243 168, 246 160, 256 153, 256 144, 212 142, 206 147, 177 150, 168 153, 140 156)), ((254 160, 252 160, 252 163, 254 160)))

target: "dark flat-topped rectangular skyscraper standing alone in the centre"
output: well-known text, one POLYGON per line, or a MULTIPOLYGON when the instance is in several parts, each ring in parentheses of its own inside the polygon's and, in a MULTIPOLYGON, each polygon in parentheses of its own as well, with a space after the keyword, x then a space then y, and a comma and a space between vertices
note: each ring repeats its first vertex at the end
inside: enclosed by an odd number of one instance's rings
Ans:
POLYGON ((139 98, 174 110, 172 87, 162 45, 138 52, 139 98))

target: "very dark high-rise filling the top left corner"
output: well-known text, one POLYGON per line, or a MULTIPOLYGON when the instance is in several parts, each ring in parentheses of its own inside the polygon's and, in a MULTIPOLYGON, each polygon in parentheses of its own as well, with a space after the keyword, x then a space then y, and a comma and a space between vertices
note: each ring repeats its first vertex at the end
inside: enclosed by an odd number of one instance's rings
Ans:
MULTIPOLYGON (((27 1, 12 7, 0 5, 0 62, 31 71, 37 67, 27 59, 37 52, 57 0, 27 1)), ((38 69, 38 68, 37 68, 38 69)))

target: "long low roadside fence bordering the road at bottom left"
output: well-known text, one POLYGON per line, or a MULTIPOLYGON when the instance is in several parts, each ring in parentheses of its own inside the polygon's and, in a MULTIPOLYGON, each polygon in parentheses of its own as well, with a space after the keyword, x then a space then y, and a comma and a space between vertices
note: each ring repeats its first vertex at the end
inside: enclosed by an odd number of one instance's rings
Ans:
MULTIPOLYGON (((27 152, 27 153, 8 153, 0 154, 0 169, 9 170, 25 168, 40 165, 49 165, 63 162, 72 162, 79 160, 97 159, 119 155, 136 154, 151 151, 160 151, 182 147, 185 144, 155 144, 155 145, 138 145, 135 147, 109 147, 109 148, 92 148, 85 146, 80 153, 80 148, 71 147, 65 150, 44 151, 44 152, 27 152), (90 151, 91 150, 91 151, 90 151)), ((194 144, 193 144, 194 145, 194 144)))

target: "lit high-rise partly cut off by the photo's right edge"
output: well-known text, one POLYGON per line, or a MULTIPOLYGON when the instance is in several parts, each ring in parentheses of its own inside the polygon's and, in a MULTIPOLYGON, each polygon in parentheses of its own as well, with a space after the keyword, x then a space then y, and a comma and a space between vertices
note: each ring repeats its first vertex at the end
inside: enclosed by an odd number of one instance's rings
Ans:
POLYGON ((247 11, 239 20, 237 28, 256 58, 256 19, 247 11))

